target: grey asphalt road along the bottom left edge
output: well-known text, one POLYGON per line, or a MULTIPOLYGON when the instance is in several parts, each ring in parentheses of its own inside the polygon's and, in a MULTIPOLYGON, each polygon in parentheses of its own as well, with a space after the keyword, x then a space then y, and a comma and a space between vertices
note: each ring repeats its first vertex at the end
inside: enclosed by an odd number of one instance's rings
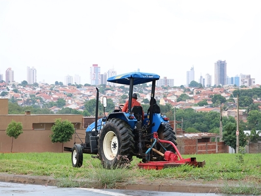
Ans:
MULTIPOLYGON (((218 194, 58 188, 56 186, 0 182, 0 196, 218 196, 218 194)), ((220 196, 222 196, 220 194, 220 196)))

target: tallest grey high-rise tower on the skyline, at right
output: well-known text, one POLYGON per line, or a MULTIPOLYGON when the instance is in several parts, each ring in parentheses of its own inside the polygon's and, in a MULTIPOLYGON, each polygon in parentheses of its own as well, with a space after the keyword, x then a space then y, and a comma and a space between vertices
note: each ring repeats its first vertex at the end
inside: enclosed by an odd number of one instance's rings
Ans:
POLYGON ((214 84, 216 86, 218 85, 226 85, 226 79, 227 79, 227 62, 226 60, 218 60, 215 63, 215 82, 214 84))

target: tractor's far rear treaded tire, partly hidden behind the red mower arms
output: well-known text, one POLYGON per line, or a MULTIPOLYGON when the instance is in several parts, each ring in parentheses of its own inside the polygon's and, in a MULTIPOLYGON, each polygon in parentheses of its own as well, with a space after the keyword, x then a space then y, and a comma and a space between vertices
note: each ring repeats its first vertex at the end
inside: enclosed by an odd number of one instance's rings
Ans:
MULTIPOLYGON (((168 124, 168 123, 162 123, 160 125, 160 128, 158 130, 158 137, 161 140, 170 141, 170 142, 174 143, 174 145, 177 146, 177 142, 176 142, 177 138, 175 136, 175 132, 173 131, 173 128, 170 126, 170 124, 168 124)), ((176 152, 176 150, 174 149, 174 147, 172 147, 171 144, 162 143, 162 145, 166 148, 166 150, 174 152, 174 153, 176 152)), ((160 151, 164 153, 165 150, 162 148, 160 151)))

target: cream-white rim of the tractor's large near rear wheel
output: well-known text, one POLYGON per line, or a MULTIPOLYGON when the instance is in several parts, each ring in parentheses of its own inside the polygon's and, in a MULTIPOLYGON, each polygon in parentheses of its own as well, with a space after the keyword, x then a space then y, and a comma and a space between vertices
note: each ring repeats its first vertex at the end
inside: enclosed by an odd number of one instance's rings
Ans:
POLYGON ((117 136, 113 131, 106 133, 103 141, 104 155, 108 160, 113 160, 118 152, 119 144, 117 136))

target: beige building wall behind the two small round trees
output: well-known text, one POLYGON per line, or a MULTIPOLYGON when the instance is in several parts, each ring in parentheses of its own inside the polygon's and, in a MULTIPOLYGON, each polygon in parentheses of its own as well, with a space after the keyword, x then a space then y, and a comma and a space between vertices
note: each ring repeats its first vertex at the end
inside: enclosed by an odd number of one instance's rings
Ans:
MULTIPOLYGON (((14 139, 12 152, 62 152, 62 144, 52 144, 49 137, 52 133, 51 126, 56 119, 69 120, 73 123, 77 132, 83 134, 81 137, 85 142, 82 115, 0 115, 0 152, 11 151, 12 138, 6 135, 5 130, 12 120, 21 122, 24 131, 14 139)), ((64 144, 64 147, 73 147, 74 135, 72 138, 70 142, 64 144)))

